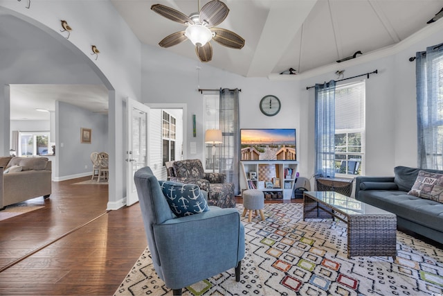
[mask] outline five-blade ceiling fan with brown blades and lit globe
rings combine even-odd
[[[228,16],[229,8],[225,3],[213,0],[200,10],[200,0],[198,0],[198,9],[199,12],[188,16],[161,4],[151,6],[151,10],[159,15],[188,27],[185,31],[163,38],[159,45],[168,48],[189,39],[195,45],[195,52],[201,62],[209,62],[213,58],[213,46],[210,45],[210,40],[231,49],[242,49],[244,39],[241,36],[224,28],[215,28]]]

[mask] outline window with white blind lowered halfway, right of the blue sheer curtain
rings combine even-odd
[[[335,172],[361,175],[365,151],[365,82],[336,87]]]

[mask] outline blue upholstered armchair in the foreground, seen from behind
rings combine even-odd
[[[239,281],[244,227],[237,209],[210,207],[177,218],[149,167],[136,171],[134,181],[154,268],[174,295],[230,268]]]

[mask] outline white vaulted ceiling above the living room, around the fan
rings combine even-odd
[[[241,35],[243,49],[211,42],[211,66],[246,77],[267,77],[289,68],[303,73],[352,56],[392,46],[419,31],[443,7],[442,0],[222,0],[230,9],[217,27]],[[161,3],[190,15],[198,0],[111,0],[144,44],[185,27],[150,8]],[[204,6],[208,0],[201,0]],[[186,40],[164,49],[199,59]],[[359,55],[357,55],[359,56]]]

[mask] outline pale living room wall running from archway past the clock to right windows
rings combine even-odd
[[[204,138],[203,101],[197,89],[238,87],[242,89],[240,127],[296,128],[300,173],[309,177],[313,173],[314,165],[314,92],[307,91],[305,87],[336,78],[334,72],[337,69],[345,69],[345,77],[378,69],[379,74],[372,75],[367,80],[368,162],[365,173],[392,175],[393,166],[417,164],[415,67],[413,63],[408,62],[408,57],[415,55],[417,50],[424,50],[426,46],[441,43],[441,30],[431,35],[421,32],[423,40],[407,42],[405,49],[392,50],[392,53],[381,55],[374,60],[368,60],[372,55],[363,55],[356,59],[359,64],[351,61],[336,64],[334,69],[325,67],[313,78],[308,78],[306,74],[294,80],[273,81],[267,78],[244,78],[222,69],[215,69],[210,64],[202,65],[195,60],[181,58],[156,46],[141,45],[109,1],[47,0],[36,3],[38,5],[33,5],[33,9],[26,9],[18,1],[0,0],[0,10],[44,28],[46,33],[89,65],[110,90],[109,150],[111,155],[114,155],[110,164],[110,208],[118,207],[125,195],[123,100],[127,96],[143,103],[186,103],[188,111],[185,118],[188,122],[185,124],[188,129],[192,129],[192,114],[197,114],[197,137],[193,138],[192,130],[189,130],[184,139],[189,145],[190,141],[202,143]],[[61,17],[67,19],[74,28],[69,40],[60,34]],[[441,28],[441,24],[440,21],[432,26]],[[11,33],[14,34],[14,28],[11,28]],[[96,44],[102,52],[97,61],[91,57],[91,44]],[[29,56],[21,55],[6,60],[29,64],[26,58]],[[3,65],[1,66],[3,71]],[[197,66],[203,67],[199,71],[200,80],[197,80]],[[5,67],[10,67],[10,64],[6,64]],[[13,71],[18,75],[15,83],[23,83],[24,77],[21,75],[28,76],[21,70]],[[54,70],[54,73],[59,72]],[[78,73],[73,72],[66,73],[66,76],[68,75],[79,77]],[[10,83],[8,80],[0,82]],[[278,96],[282,101],[282,111],[277,116],[268,117],[260,113],[258,103],[266,94]],[[0,129],[0,139],[8,134],[6,130],[9,132],[9,121],[5,112],[9,107],[8,95],[3,96],[5,100],[0,100],[0,110],[3,112],[1,117],[4,125]],[[8,149],[6,146],[3,145],[2,148]],[[187,154],[184,157],[203,158],[203,145],[197,145],[195,155]]]

